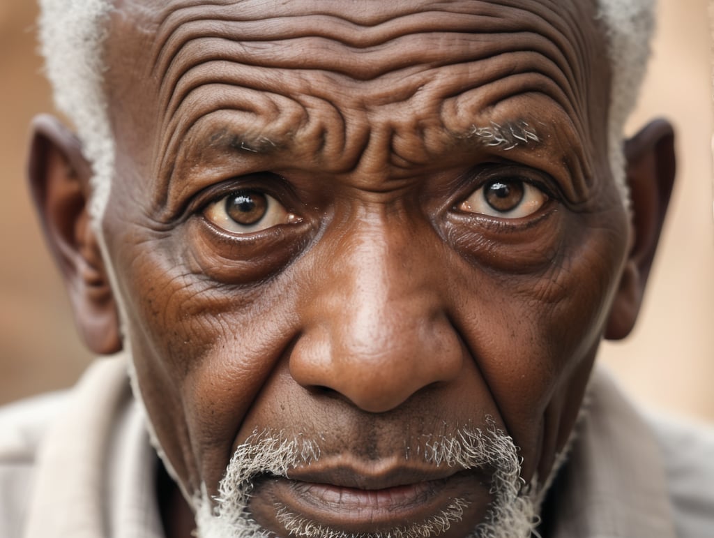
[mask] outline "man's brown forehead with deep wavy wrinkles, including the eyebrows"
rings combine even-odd
[[[594,14],[582,1],[119,3],[119,152],[161,205],[226,174],[300,169],[383,191],[491,159],[543,169],[581,203],[593,156],[606,159]]]

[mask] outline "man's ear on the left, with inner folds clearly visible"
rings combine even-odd
[[[36,117],[28,169],[32,197],[64,277],[79,333],[94,353],[118,352],[116,304],[87,212],[91,166],[79,140],[56,118]]]

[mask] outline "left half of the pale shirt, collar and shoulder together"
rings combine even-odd
[[[0,414],[0,537],[163,537],[158,460],[126,368],[99,359],[69,394]]]

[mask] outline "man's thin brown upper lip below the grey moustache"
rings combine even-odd
[[[463,467],[430,467],[395,462],[313,462],[291,469],[288,479],[354,489],[387,489],[432,482],[463,472]]]

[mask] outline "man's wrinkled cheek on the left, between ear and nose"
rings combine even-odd
[[[243,416],[293,339],[294,286],[288,274],[269,287],[218,284],[186,269],[170,239],[129,239],[118,241],[119,285],[139,387],[161,447],[195,490],[223,473]]]

